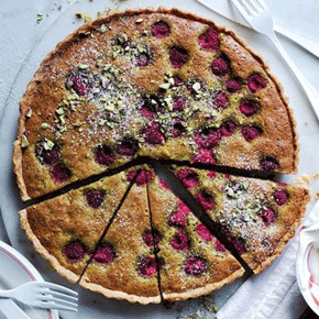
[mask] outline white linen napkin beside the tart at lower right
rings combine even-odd
[[[319,220],[319,200],[304,224]],[[297,319],[307,308],[296,279],[298,235],[272,266],[250,277],[218,311],[218,319]]]

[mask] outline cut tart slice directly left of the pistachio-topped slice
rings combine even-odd
[[[165,300],[209,294],[243,275],[240,263],[157,176],[147,187]]]

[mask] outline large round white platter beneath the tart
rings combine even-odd
[[[121,8],[139,8],[150,6],[148,0],[131,0],[121,4]],[[110,1],[108,1],[108,6]],[[289,70],[278,58],[277,54],[272,50],[268,43],[263,37],[258,37],[254,32],[244,28],[231,23],[230,21],[222,19],[221,16],[209,11],[205,7],[198,4],[194,0],[154,0],[152,6],[164,6],[170,8],[172,6],[180,8],[183,10],[191,11],[199,15],[213,19],[220,25],[227,25],[229,29],[238,31],[249,44],[251,44],[256,52],[263,52],[264,57],[271,65],[271,68],[282,80],[285,92],[289,96],[292,106],[295,110],[296,119],[298,121],[298,131],[300,135],[300,165],[299,170],[308,174],[318,172],[318,148],[319,148],[319,125],[314,117],[311,108],[308,106],[306,97],[300,91],[299,86],[296,84]],[[37,69],[38,64],[45,57],[45,55],[54,48],[57,42],[65,38],[73,30],[80,24],[80,22],[74,22],[74,13],[82,10],[84,12],[102,11],[106,3],[103,1],[82,1],[81,3],[75,3],[66,12],[62,13],[57,21],[48,28],[43,34],[40,42],[36,44],[32,53],[29,55],[24,64],[22,65],[19,75],[14,81],[11,92],[7,100],[3,118],[1,119],[0,136],[0,205],[2,210],[2,217],[8,231],[10,241],[14,248],[23,252],[25,256],[30,258],[34,254],[34,250],[31,243],[25,239],[24,233],[20,230],[19,218],[16,212],[21,209],[21,200],[16,188],[15,176],[12,173],[12,143],[15,140],[18,118],[19,118],[19,100],[23,95],[25,87],[33,76],[33,73]],[[22,28],[22,26],[21,26]],[[305,64],[311,65],[309,57],[306,54],[300,53]],[[308,58],[308,61],[307,61]],[[319,88],[317,86],[317,88]],[[305,125],[305,121],[308,124]],[[286,180],[293,180],[294,177],[285,177]],[[45,279],[68,285],[68,283],[59,277],[55,272],[48,268],[47,263],[38,255],[33,258],[33,264],[44,276]],[[221,290],[212,293],[215,301],[218,307],[221,307],[227,299],[237,290],[244,278],[237,280],[232,285],[223,287]],[[74,286],[72,287],[74,288]],[[102,296],[78,288],[79,293],[79,314],[65,312],[64,318],[101,318],[107,316],[108,318],[132,318],[132,316],[139,316],[139,318],[176,318],[178,315],[176,310],[165,309],[160,305],[140,306],[131,305],[127,301],[119,301],[112,299],[106,299]],[[194,305],[194,309],[199,307],[199,299],[193,301],[182,302],[183,306]],[[135,314],[135,315],[134,315]]]

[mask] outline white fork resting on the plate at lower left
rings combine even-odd
[[[77,311],[77,293],[63,286],[31,282],[14,289],[0,290],[0,298],[11,298],[24,305],[66,311]]]

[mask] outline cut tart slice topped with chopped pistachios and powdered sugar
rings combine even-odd
[[[310,200],[308,189],[283,183],[189,167],[174,172],[255,274],[294,237]]]

